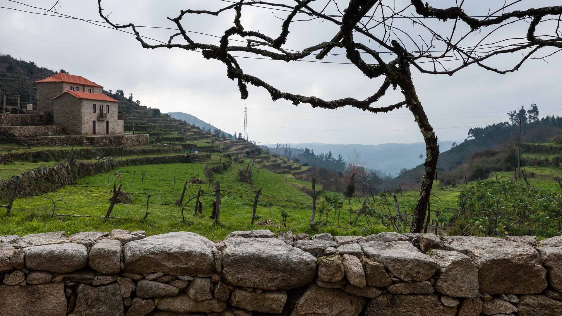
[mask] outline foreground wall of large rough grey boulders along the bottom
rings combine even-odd
[[[0,236],[0,315],[557,316],[562,236]]]

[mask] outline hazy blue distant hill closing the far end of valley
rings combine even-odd
[[[451,148],[453,142],[439,142],[441,151]],[[387,143],[381,145],[362,145],[362,144],[325,144],[325,143],[298,143],[298,144],[279,144],[289,146],[293,154],[301,153],[305,148],[314,150],[316,155],[332,152],[333,156],[342,155],[348,161],[353,155],[353,150],[357,150],[361,155],[359,160],[367,168],[382,171],[388,175],[396,176],[402,168],[414,168],[419,165],[420,154],[425,157],[424,143]],[[268,147],[276,148],[277,144],[269,144]],[[283,155],[284,147],[275,149],[278,154]],[[279,151],[279,152],[278,152]]]

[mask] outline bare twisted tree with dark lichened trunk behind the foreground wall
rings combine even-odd
[[[489,9],[480,6],[481,12],[475,16],[464,12],[464,1],[449,8],[435,8],[422,0],[402,2],[402,7],[397,7],[396,2],[389,0],[324,0],[323,3],[318,3],[321,10],[311,7],[314,0],[232,2],[234,3],[217,11],[180,10],[178,16],[168,18],[178,30],[170,35],[167,42],[158,41],[159,43],[154,44],[152,39],[143,37],[134,24],[115,24],[108,19],[109,15],[102,13],[101,0],[98,0],[98,11],[112,27],[132,29],[135,39],[143,48],[182,48],[201,52],[204,58],[223,62],[228,78],[238,82],[242,99],[248,97],[247,85],[251,84],[266,89],[274,101],[284,99],[294,105],[309,103],[312,107],[324,109],[352,106],[374,114],[406,106],[413,114],[425,141],[424,177],[420,185],[418,204],[414,210],[413,232],[421,232],[423,229],[439,147],[433,127],[416,94],[411,67],[423,74],[453,75],[468,66],[479,66],[498,74],[506,74],[518,70],[524,61],[545,58],[562,50],[559,31],[562,6],[525,7],[526,3],[533,3],[531,1],[512,0]],[[317,2],[320,1],[315,3]],[[274,10],[275,17],[280,12],[286,12],[287,15],[281,18],[279,35],[270,37],[259,31],[245,29],[241,20],[242,9],[248,7],[255,7],[256,10]],[[341,7],[343,10],[340,10]],[[521,9],[507,11],[515,7]],[[223,12],[232,11],[233,26],[225,30],[219,44],[195,42],[182,24],[185,15],[218,16]],[[327,42],[326,39],[320,39],[320,42],[301,51],[283,47],[293,23],[311,21],[321,21],[327,28],[336,25],[339,31]],[[521,24],[523,29],[518,26]],[[537,34],[537,28],[540,29],[540,34]],[[474,34],[479,36],[473,36]],[[235,42],[239,38],[244,45]],[[182,42],[178,42],[178,39]],[[342,49],[344,52],[339,55],[345,54],[347,60],[367,78],[383,78],[377,91],[365,100],[353,97],[324,100],[316,96],[302,96],[280,91],[265,80],[244,72],[238,62],[239,58],[247,57],[290,62],[305,60],[312,55],[321,60],[333,49]],[[536,56],[539,50],[545,51],[544,55]],[[505,70],[498,69],[498,64],[504,65],[512,61],[495,57],[507,54],[515,56],[517,60]],[[391,86],[393,89],[400,89],[404,101],[372,107],[371,105],[379,101]]]

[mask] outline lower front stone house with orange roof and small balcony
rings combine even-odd
[[[123,134],[117,100],[102,93],[68,90],[53,99],[53,120],[75,135]]]

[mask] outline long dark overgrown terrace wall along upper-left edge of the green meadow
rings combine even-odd
[[[100,160],[99,162],[76,162],[69,165],[67,162],[51,167],[35,168],[21,174],[20,182],[17,186],[16,196],[31,196],[38,193],[56,191],[64,186],[69,186],[75,180],[94,175],[106,173],[114,168],[131,165],[151,165],[151,164],[183,164],[189,162],[199,162],[202,158],[209,156],[203,154],[180,154],[171,156],[149,156],[129,158],[123,160]],[[0,195],[8,196],[13,183],[13,178],[0,180]],[[2,315],[2,314],[0,314]]]

